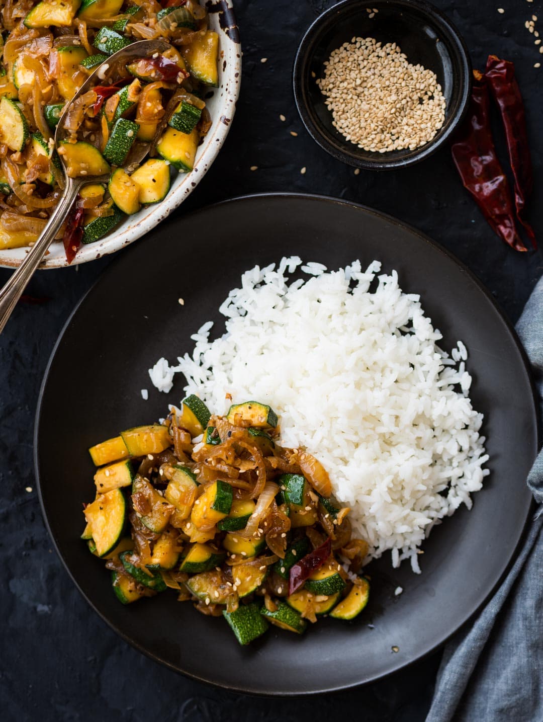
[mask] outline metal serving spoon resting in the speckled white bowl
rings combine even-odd
[[[120,64],[119,61],[128,62],[133,58],[148,57],[152,53],[164,52],[170,47],[171,46],[166,42],[166,40],[138,40],[137,43],[131,43],[131,45],[128,45],[126,48],[123,48],[123,50],[120,50],[118,53],[114,53],[112,56],[107,58],[107,61],[98,66],[97,69],[89,75],[87,80],[79,88],[79,91],[76,92],[76,95],[74,95],[71,99],[70,103],[66,105],[66,108],[58,121],[58,125],[56,126],[56,147],[58,147],[58,143],[66,136],[64,123],[66,121],[66,114],[68,113],[71,104],[74,103],[80,95],[83,95],[88,90],[92,90],[92,88],[96,85],[103,85],[108,77],[108,69],[111,74],[115,66]],[[105,66],[107,66],[107,68],[105,68]],[[134,165],[143,160],[147,155],[147,152],[149,152],[149,145],[149,143],[141,142],[134,144],[128,158],[126,159],[125,165]],[[103,183],[104,181],[108,181],[110,178],[109,173],[106,175],[85,175],[84,177],[70,178],[67,173],[63,157],[61,155],[59,155],[59,157],[61,159],[65,175],[62,196],[53,210],[53,213],[50,215],[48,223],[45,225],[40,238],[38,238],[35,244],[32,245],[32,248],[28,251],[27,256],[22,261],[19,268],[14,271],[12,277],[10,277],[9,281],[0,290],[0,333],[4,330],[4,326],[6,325],[8,318],[12,315],[12,310],[15,308],[22,292],[25,290],[32,274],[37,269],[37,266],[40,265],[43,256],[45,256],[45,252],[49,248],[53,238],[57,235],[58,229],[63,224],[67,214],[69,214],[71,206],[74,204],[81,186],[85,186],[88,183]]]

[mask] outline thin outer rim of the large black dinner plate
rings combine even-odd
[[[318,193],[290,193],[290,192],[275,192],[275,193],[250,193],[244,196],[235,196],[232,199],[226,199],[224,201],[218,201],[217,203],[209,204],[207,206],[203,206],[200,209],[197,209],[195,211],[190,212],[183,218],[186,219],[187,217],[193,217],[197,216],[198,214],[206,214],[209,209],[216,208],[218,206],[223,206],[226,204],[231,203],[241,203],[244,201],[255,201],[259,199],[305,199],[305,200],[312,200],[312,201],[322,201],[325,203],[332,203],[336,205],[342,205],[342,206],[350,206],[353,208],[356,208],[360,210],[361,212],[365,212],[371,215],[374,215],[376,217],[381,217],[383,219],[386,219],[388,222],[394,223],[394,225],[397,225],[399,227],[404,228],[405,230],[408,230],[409,232],[416,235],[420,240],[423,240],[428,245],[433,246],[436,248],[440,253],[443,253],[444,256],[447,256],[451,261],[453,261],[457,266],[459,266],[462,271],[467,274],[469,279],[474,282],[474,284],[477,286],[477,288],[487,297],[487,300],[490,300],[491,305],[493,306],[495,312],[498,314],[498,317],[500,318],[500,321],[504,324],[506,327],[506,330],[510,334],[510,336],[513,338],[514,343],[516,344],[516,348],[519,352],[519,355],[521,357],[521,360],[523,362],[523,370],[524,370],[524,376],[526,378],[526,381],[529,383],[529,388],[531,389],[531,396],[534,401],[534,418],[535,418],[535,446],[539,449],[540,441],[541,441],[541,435],[542,435],[542,428],[541,428],[541,421],[539,419],[539,414],[537,413],[537,409],[539,409],[539,397],[537,395],[536,388],[534,386],[534,381],[532,379],[531,373],[529,373],[529,360],[526,356],[526,351],[524,350],[524,347],[522,346],[520,339],[518,338],[518,335],[516,334],[516,331],[514,329],[513,324],[511,321],[508,320],[508,318],[505,316],[503,311],[500,309],[498,303],[496,303],[493,296],[490,294],[489,291],[485,288],[485,286],[480,282],[480,280],[472,273],[472,271],[469,270],[469,268],[462,263],[462,261],[459,260],[459,258],[456,258],[453,253],[448,251],[446,248],[444,248],[442,245],[437,243],[435,240],[432,240],[429,236],[425,235],[423,232],[420,232],[416,228],[412,227],[411,225],[404,223],[402,221],[399,221],[397,218],[390,216],[389,214],[382,213],[380,211],[375,211],[374,209],[368,208],[367,206],[363,206],[362,204],[353,203],[351,201],[344,201],[343,199],[337,199],[332,196],[324,196],[319,195]],[[177,219],[172,219],[170,222],[176,222]],[[156,229],[155,229],[156,230]],[[145,238],[145,237],[144,237]],[[137,245],[136,245],[137,248]],[[130,251],[128,251],[130,252]],[[495,590],[498,588],[500,583],[502,582],[503,578],[505,578],[508,571],[511,569],[511,566],[513,565],[513,561],[516,557],[516,554],[518,552],[519,547],[521,546],[522,541],[524,541],[524,537],[526,536],[527,527],[529,525],[529,521],[531,520],[531,510],[534,508],[534,502],[532,500],[531,505],[529,506],[528,513],[526,514],[526,519],[524,520],[524,524],[522,526],[521,532],[518,535],[518,539],[516,541],[515,547],[512,549],[511,554],[506,560],[506,563],[503,565],[503,570],[500,573],[500,576],[498,580],[496,580],[495,585],[493,588],[487,593],[484,599],[480,602],[480,604],[477,605],[474,609],[469,610],[467,614],[465,615],[464,619],[462,619],[461,624],[456,627],[456,629],[452,630],[448,635],[446,635],[445,638],[443,638],[440,642],[436,643],[435,645],[431,646],[431,648],[428,648],[427,650],[423,651],[422,653],[418,654],[415,658],[410,659],[410,661],[406,662],[399,662],[397,666],[394,667],[394,669],[391,669],[387,671],[385,674],[376,674],[374,677],[371,677],[371,679],[366,679],[363,682],[354,682],[349,684],[338,684],[333,687],[327,688],[326,690],[317,690],[317,691],[281,691],[278,692],[260,692],[256,690],[247,690],[240,684],[239,686],[232,686],[229,684],[220,684],[217,682],[214,682],[213,679],[208,679],[206,677],[198,676],[197,674],[193,674],[189,669],[181,669],[179,666],[176,666],[175,664],[171,664],[169,661],[159,657],[158,655],[150,652],[144,646],[137,643],[135,640],[133,640],[131,637],[126,635],[122,630],[120,630],[113,622],[108,619],[107,615],[102,613],[100,609],[97,609],[97,606],[94,605],[91,599],[87,596],[87,594],[82,591],[81,587],[77,583],[76,579],[74,578],[74,575],[71,573],[71,569],[66,564],[66,561],[64,560],[63,554],[61,553],[61,550],[58,546],[56,536],[53,534],[53,530],[50,527],[49,519],[48,519],[48,513],[45,509],[45,505],[43,503],[43,496],[42,496],[42,489],[41,489],[41,480],[40,480],[40,469],[38,464],[38,455],[37,455],[37,446],[38,446],[38,436],[39,436],[39,428],[40,428],[40,417],[41,417],[41,408],[42,408],[42,402],[43,402],[43,395],[45,392],[45,386],[47,385],[48,376],[50,367],[53,365],[53,362],[55,360],[56,352],[58,350],[58,347],[60,347],[63,336],[66,333],[66,330],[69,328],[71,321],[73,320],[74,316],[76,316],[76,313],[78,312],[81,305],[87,300],[87,297],[94,292],[94,290],[100,285],[103,279],[105,279],[108,274],[111,274],[115,271],[115,267],[122,262],[122,256],[119,256],[116,258],[110,266],[107,266],[105,271],[102,271],[102,274],[100,274],[100,277],[97,278],[97,280],[92,284],[92,286],[87,290],[87,292],[84,293],[84,295],[81,297],[79,302],[74,307],[74,310],[71,311],[69,318],[67,318],[66,323],[63,324],[63,328],[58,335],[58,339],[55,342],[55,345],[53,347],[53,351],[51,352],[51,355],[48,360],[47,367],[45,368],[45,373],[43,375],[43,380],[40,386],[40,393],[38,395],[37,399],[37,408],[36,408],[36,414],[35,414],[35,424],[34,424],[34,435],[33,435],[33,442],[34,442],[34,448],[33,448],[33,459],[34,459],[34,469],[35,469],[35,478],[37,483],[37,493],[40,500],[40,508],[43,515],[43,520],[45,521],[45,527],[48,531],[48,534],[53,541],[53,546],[55,547],[55,551],[58,554],[58,557],[60,557],[61,562],[63,564],[63,567],[66,569],[66,571],[69,574],[69,577],[71,578],[72,582],[76,586],[76,588],[81,593],[81,596],[84,597],[84,599],[87,601],[89,606],[94,609],[94,612],[96,612],[99,617],[106,622],[108,627],[112,629],[116,634],[120,636],[125,642],[128,642],[133,648],[136,648],[139,652],[143,653],[145,656],[151,658],[152,660],[158,662],[159,664],[162,664],[164,666],[167,666],[169,669],[172,669],[173,671],[177,672],[178,674],[183,674],[185,677],[190,677],[191,679],[195,679],[198,682],[205,682],[206,684],[212,684],[214,687],[220,687],[221,689],[228,690],[229,692],[237,692],[242,693],[246,695],[252,695],[256,697],[307,697],[309,695],[322,695],[327,694],[329,692],[341,692],[343,690],[350,690],[350,689],[356,689],[357,687],[361,687],[364,684],[371,684],[372,682],[376,682],[379,679],[385,679],[389,677],[391,674],[394,674],[395,672],[399,671],[400,669],[406,669],[408,666],[411,666],[412,664],[415,664],[415,662],[421,661],[424,658],[431,655],[433,652],[441,648],[443,644],[445,644],[454,634],[456,631],[459,630],[462,625],[464,625],[468,619],[471,619],[474,614],[477,614],[477,612],[482,609],[482,606],[485,605],[485,603],[490,599],[490,597],[493,595]]]

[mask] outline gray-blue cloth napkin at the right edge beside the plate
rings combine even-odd
[[[516,330],[543,397],[543,278]],[[543,722],[543,451],[521,552],[482,612],[446,645],[426,722]]]

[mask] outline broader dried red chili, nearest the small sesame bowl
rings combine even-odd
[[[466,119],[451,151],[464,188],[472,194],[490,227],[516,251],[526,251],[515,224],[506,175],[496,155],[490,128],[490,95],[486,79],[474,70]]]

